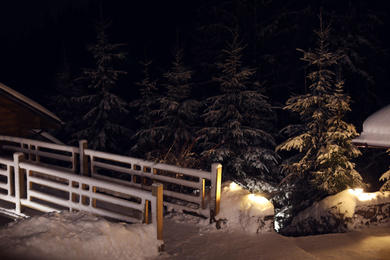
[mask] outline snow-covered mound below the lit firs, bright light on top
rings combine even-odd
[[[389,222],[390,191],[364,193],[347,189],[300,212],[284,232],[289,235],[337,233]]]

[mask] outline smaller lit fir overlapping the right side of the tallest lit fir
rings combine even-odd
[[[365,187],[362,177],[355,170],[352,159],[361,153],[352,145],[352,138],[358,134],[352,124],[343,118],[350,111],[350,97],[343,93],[344,82],[337,82],[334,94],[327,102],[329,118],[324,146],[318,151],[319,170],[314,172],[314,184],[328,194],[335,194],[346,188]]]

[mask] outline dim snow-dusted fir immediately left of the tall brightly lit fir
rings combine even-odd
[[[255,70],[243,67],[244,47],[233,32],[225,60],[218,64],[220,94],[207,99],[201,130],[203,155],[224,166],[224,178],[265,178],[276,164],[274,139],[267,133],[270,105],[253,80]]]

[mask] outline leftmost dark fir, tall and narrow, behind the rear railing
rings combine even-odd
[[[76,136],[88,140],[92,149],[120,152],[123,141],[130,136],[130,130],[122,123],[128,113],[128,104],[114,93],[119,76],[125,74],[125,71],[116,69],[114,65],[125,54],[120,51],[122,44],[109,42],[106,32],[109,26],[109,20],[100,19],[96,25],[96,43],[87,46],[96,61],[96,67],[84,69],[89,92],[77,98],[86,112],[83,127]]]

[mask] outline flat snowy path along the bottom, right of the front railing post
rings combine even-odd
[[[164,219],[165,252],[158,259],[390,259],[390,227],[344,234],[283,237],[215,230]]]

